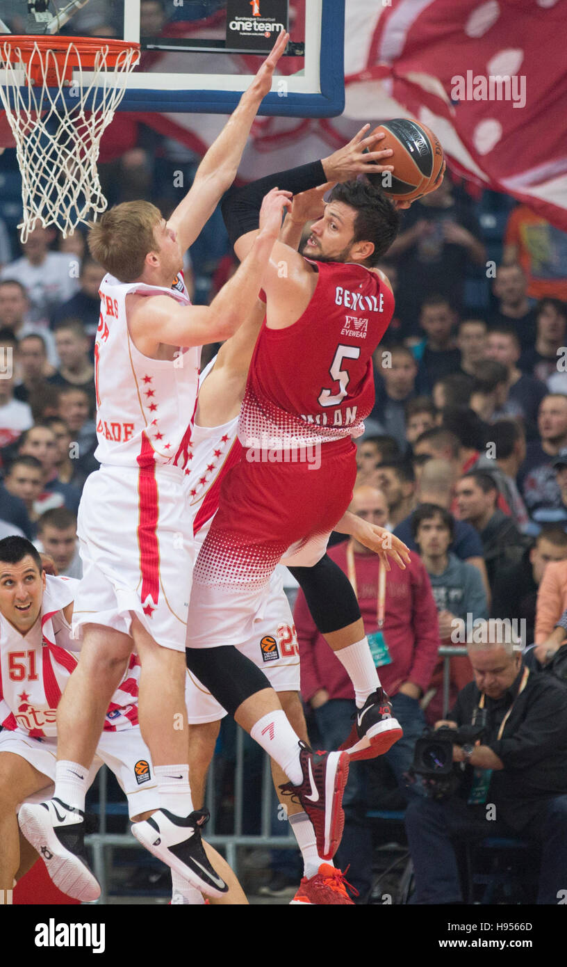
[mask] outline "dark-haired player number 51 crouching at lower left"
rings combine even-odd
[[[25,538],[0,541],[0,894],[12,890],[14,880],[39,855],[56,886],[72,890],[62,879],[61,852],[66,839],[76,836],[76,827],[52,831],[38,853],[18,836],[16,810],[49,794],[55,778],[56,708],[80,650],[71,638],[77,585],[72,578],[46,574],[40,554]],[[139,660],[132,655],[112,696],[86,778],[90,788],[105,763],[127,796],[133,823],[148,818],[159,805],[152,761],[137,724],[138,683]],[[242,902],[232,870],[210,844],[205,846],[230,883],[232,902]],[[176,886],[174,880],[174,897]]]

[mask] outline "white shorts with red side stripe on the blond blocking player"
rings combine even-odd
[[[130,634],[135,614],[159,645],[184,651],[195,556],[187,480],[178,467],[107,464],[87,479],[73,637],[91,623]]]

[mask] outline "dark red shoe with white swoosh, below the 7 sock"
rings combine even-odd
[[[282,792],[297,796],[309,816],[317,837],[317,852],[324,860],[335,855],[343,828],[343,793],[349,777],[349,756],[346,752],[314,752],[299,742],[299,764],[303,781],[296,786],[286,782]]]

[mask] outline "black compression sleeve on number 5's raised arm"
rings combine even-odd
[[[243,188],[231,189],[224,196],[221,205],[230,244],[234,246],[241,235],[258,228],[262,200],[272,188],[298,194],[325,183],[326,174],[322,162],[312,161],[310,164],[301,164],[298,168],[290,168],[289,171],[267,175],[266,178],[260,178]]]

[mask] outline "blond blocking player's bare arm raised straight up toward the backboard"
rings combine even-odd
[[[222,195],[235,180],[252,122],[271,88],[273,71],[289,34],[279,34],[269,56],[241,97],[236,110],[201,161],[190,190],[169,219],[183,251],[193,244],[213,215]]]

